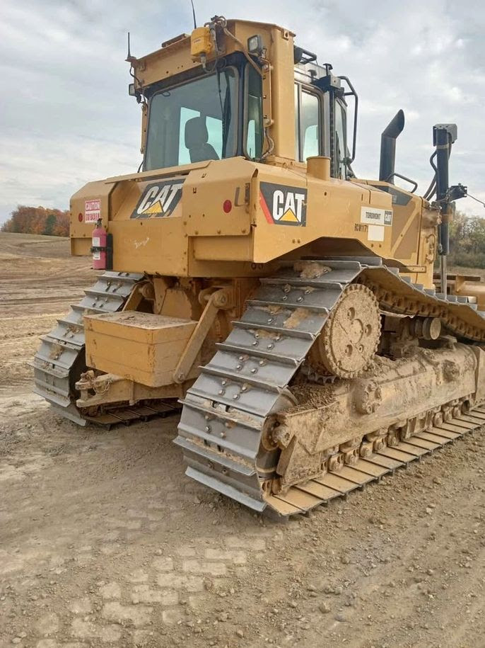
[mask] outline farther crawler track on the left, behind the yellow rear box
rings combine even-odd
[[[83,315],[121,310],[134,285],[142,278],[143,275],[136,273],[103,273],[92,288],[85,290],[81,302],[71,306],[71,312],[58,319],[55,329],[41,338],[39,351],[30,363],[34,369],[34,392],[45,398],[65,419],[80,426],[91,422],[110,428],[178,411],[178,407],[173,405],[154,403],[119,407],[98,416],[84,416],[76,407],[74,385],[85,366]]]

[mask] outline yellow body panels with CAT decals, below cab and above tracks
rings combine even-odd
[[[209,161],[89,183],[71,201],[71,248],[88,254],[98,216],[115,270],[252,276],[276,259],[361,254],[397,260],[431,287],[438,219],[407,196],[393,204],[387,191],[321,180],[302,164]]]

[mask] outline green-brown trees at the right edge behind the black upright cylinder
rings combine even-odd
[[[450,222],[450,264],[485,268],[485,218],[456,212]]]

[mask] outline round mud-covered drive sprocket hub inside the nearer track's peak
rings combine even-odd
[[[340,378],[354,378],[369,365],[379,339],[380,312],[373,292],[361,284],[348,285],[310,349],[310,364]]]

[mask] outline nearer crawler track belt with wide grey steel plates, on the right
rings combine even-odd
[[[175,439],[184,453],[187,476],[255,511],[269,507],[281,516],[307,511],[346,494],[450,440],[433,432],[436,440],[431,439],[432,448],[412,452],[409,445],[418,445],[407,440],[407,450],[397,446],[384,451],[389,456],[360,460],[358,466],[345,470],[347,477],[327,474],[321,484],[307,487],[312,493],[292,487],[290,499],[288,494],[274,496],[262,488],[264,474],[256,462],[264,426],[269,415],[280,409],[288,384],[347,285],[368,286],[388,312],[440,317],[460,337],[485,340],[485,313],[478,312],[476,304],[467,297],[423,289],[402,277],[398,268],[383,266],[380,258],[322,258],[308,263],[321,264],[325,271],[304,275],[288,266],[261,280],[240,321],[233,322],[228,338],[217,345],[214,358],[201,368],[183,399]],[[482,420],[485,416],[479,412],[477,421],[472,422],[478,427]],[[438,443],[439,438],[447,440]],[[348,478],[350,474],[353,479]]]

